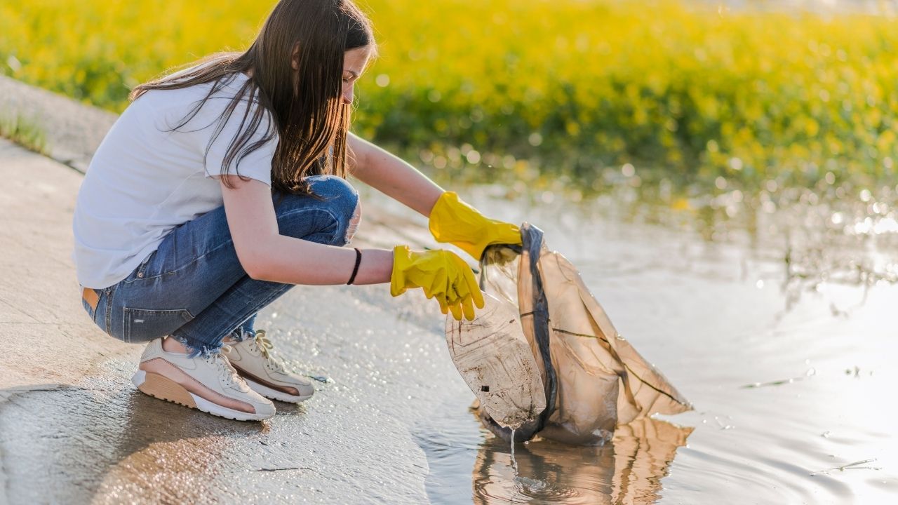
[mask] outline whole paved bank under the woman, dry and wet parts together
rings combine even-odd
[[[2,139],[0,174],[0,503],[427,501],[415,433],[472,397],[436,304],[385,286],[291,289],[257,325],[329,382],[270,421],[214,418],[137,392],[143,346],[84,313],[69,258],[83,175]],[[357,244],[426,243],[419,220],[363,205]]]

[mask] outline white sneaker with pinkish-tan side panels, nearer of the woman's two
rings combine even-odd
[[[131,382],[156,398],[236,421],[275,415],[274,403],[252,391],[221,354],[188,358],[163,350],[163,339],[155,339],[146,346],[138,368]]]

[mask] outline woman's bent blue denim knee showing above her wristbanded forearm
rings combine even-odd
[[[333,175],[316,175],[309,182],[317,198],[285,195],[277,205],[281,234],[321,244],[348,244],[361,218],[358,191]]]

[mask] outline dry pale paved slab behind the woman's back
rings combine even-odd
[[[0,388],[72,382],[109,356],[133,356],[94,331],[77,297],[69,254],[83,175],[6,140],[0,174]]]

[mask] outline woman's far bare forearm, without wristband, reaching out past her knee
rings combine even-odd
[[[415,167],[351,133],[348,146],[349,169],[359,181],[424,216],[430,215],[436,200],[445,192]]]

